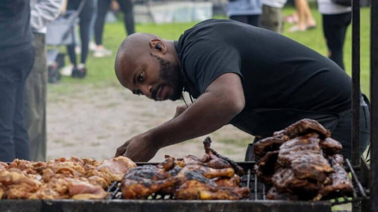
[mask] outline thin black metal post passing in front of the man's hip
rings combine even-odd
[[[360,165],[360,1],[352,0],[352,164]],[[352,204],[361,212],[361,202]]]

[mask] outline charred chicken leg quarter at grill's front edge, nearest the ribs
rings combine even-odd
[[[181,170],[177,175],[181,179],[175,191],[177,199],[230,199],[237,200],[247,197],[248,187],[219,187],[210,179],[204,177],[199,170]]]

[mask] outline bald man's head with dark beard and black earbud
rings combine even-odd
[[[135,33],[118,49],[115,72],[120,83],[134,94],[155,100],[180,98],[183,82],[173,41]]]

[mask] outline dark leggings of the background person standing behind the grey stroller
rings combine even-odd
[[[77,10],[80,4],[80,0],[68,0],[67,1],[67,10]],[[95,5],[93,0],[86,0],[84,7],[79,14],[79,27],[80,27],[80,40],[81,40],[81,58],[80,62],[85,64],[88,57],[88,45],[89,45],[89,31],[91,27],[91,19],[95,10]],[[76,66],[76,54],[75,54],[75,45],[68,45],[67,52],[69,60],[71,63]]]

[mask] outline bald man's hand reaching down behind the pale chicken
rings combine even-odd
[[[125,156],[134,162],[147,162],[158,152],[158,147],[146,133],[136,135],[117,148],[115,157]]]

